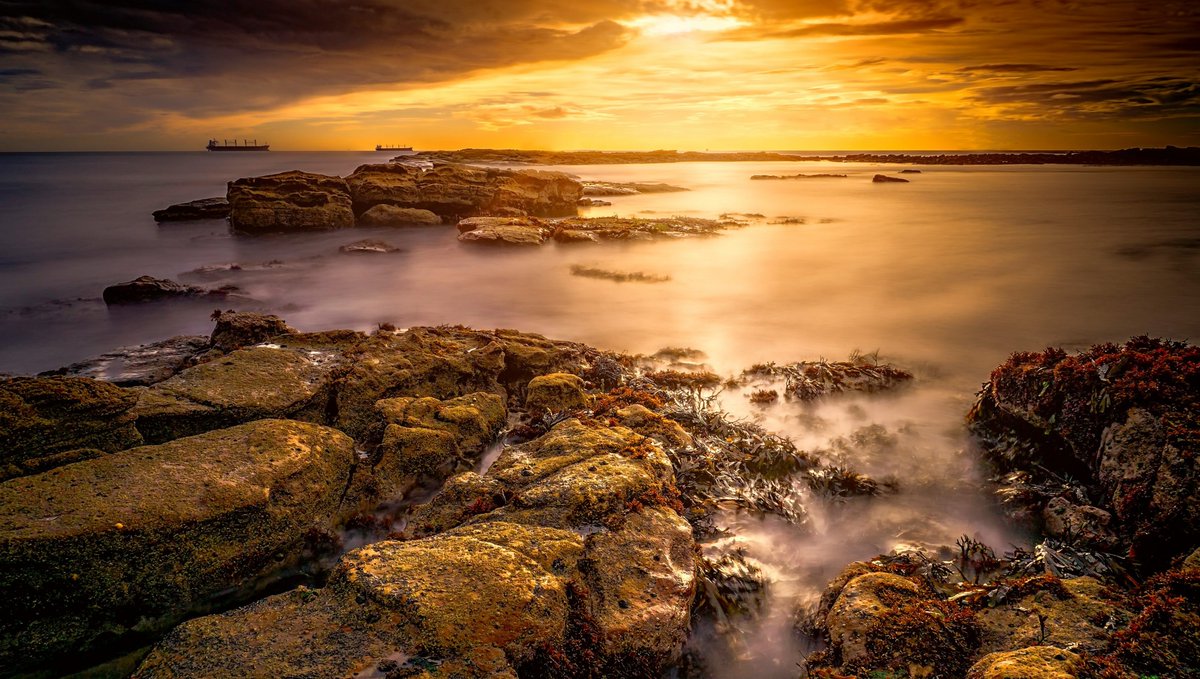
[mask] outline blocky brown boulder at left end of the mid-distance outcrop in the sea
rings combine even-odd
[[[354,226],[346,180],[284,172],[230,181],[229,226],[247,234],[319,232]]]

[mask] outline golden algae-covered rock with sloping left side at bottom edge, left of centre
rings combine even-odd
[[[575,533],[503,522],[377,542],[347,554],[319,593],[180,626],[136,677],[352,677],[416,657],[438,677],[514,672],[562,648],[569,600],[557,573],[582,552]],[[299,633],[256,632],[281,625]]]

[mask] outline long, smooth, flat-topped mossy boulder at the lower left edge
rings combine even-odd
[[[288,567],[354,458],[340,432],[266,420],[0,483],[0,665],[138,645]]]

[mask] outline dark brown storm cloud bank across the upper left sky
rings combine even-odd
[[[565,5],[565,6],[564,6]],[[0,66],[120,90],[124,112],[236,113],[619,47],[641,2],[547,0],[0,1]],[[140,86],[139,86],[140,84]],[[0,79],[0,91],[8,85]],[[0,106],[13,103],[0,98]],[[119,112],[107,112],[120,122]]]

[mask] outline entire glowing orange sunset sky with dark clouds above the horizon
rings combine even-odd
[[[0,0],[0,150],[1200,145],[1196,0]]]

